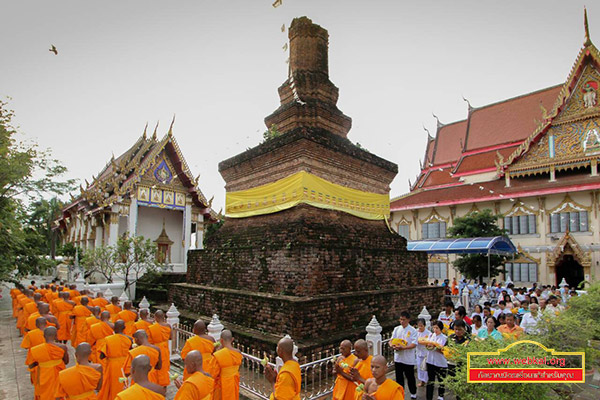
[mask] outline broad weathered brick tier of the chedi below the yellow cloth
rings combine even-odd
[[[228,219],[188,257],[187,282],[295,296],[427,285],[424,253],[384,221],[300,205]]]

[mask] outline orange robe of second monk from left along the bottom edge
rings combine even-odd
[[[66,399],[97,400],[96,388],[102,374],[85,365],[75,365],[60,371],[55,396]]]

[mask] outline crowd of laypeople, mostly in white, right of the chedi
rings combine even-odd
[[[424,319],[417,319],[415,328],[410,325],[408,312],[400,314],[400,325],[392,333],[390,346],[394,349],[396,382],[404,387],[406,381],[411,398],[417,398],[417,386],[426,386],[426,398],[432,400],[437,381],[438,400],[443,400],[445,388],[440,382],[456,370],[449,346],[466,345],[470,340],[502,342],[536,334],[542,317],[556,317],[565,309],[568,299],[578,295],[565,287],[536,284],[517,289],[512,284],[502,287],[494,282],[491,290],[485,284],[478,289],[486,290],[482,295],[490,300],[478,297],[485,301],[475,305],[470,316],[464,306],[455,307],[447,300],[437,320],[431,323],[431,331]],[[496,295],[488,297],[492,291]]]

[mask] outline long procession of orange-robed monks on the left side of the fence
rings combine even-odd
[[[181,351],[181,379],[170,375],[173,331],[161,310],[151,319],[149,310],[135,310],[130,301],[121,308],[117,297],[109,301],[58,280],[39,288],[32,281],[10,295],[35,400],[159,400],[172,381],[175,400],[239,400],[242,353],[229,330],[216,342],[196,321]],[[67,368],[69,344],[76,364]],[[284,338],[277,346],[283,367],[264,367],[272,400],[300,399],[300,366],[292,353],[292,340]]]

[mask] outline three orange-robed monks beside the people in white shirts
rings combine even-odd
[[[340,343],[340,356],[334,360],[337,374],[333,387],[334,400],[403,400],[404,388],[387,378],[387,360],[369,355],[367,342]]]

